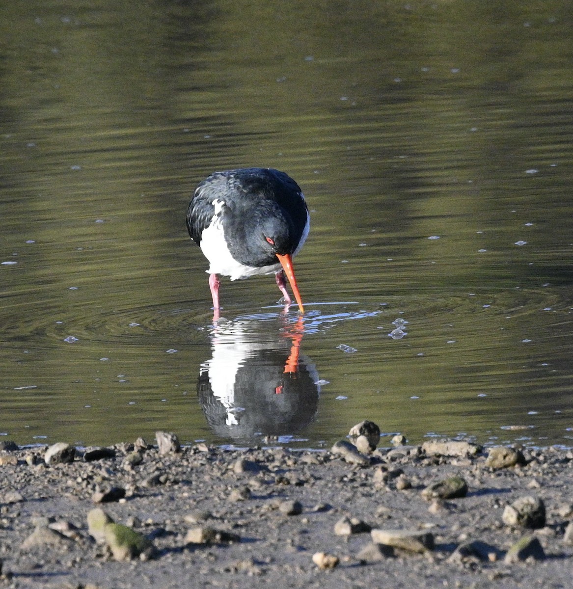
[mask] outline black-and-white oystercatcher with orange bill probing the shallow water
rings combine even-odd
[[[301,313],[301,295],[292,266],[308,236],[310,216],[298,184],[272,168],[215,172],[195,190],[187,210],[187,230],[209,260],[209,287],[219,317],[219,277],[238,280],[276,274],[291,303],[285,273]]]

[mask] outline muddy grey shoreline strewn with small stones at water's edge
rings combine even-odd
[[[3,442],[0,587],[573,587],[573,451],[492,462],[467,442],[341,439],[238,451],[166,435],[62,444],[50,464]],[[121,525],[98,537],[94,509]],[[123,526],[144,544],[117,551]]]

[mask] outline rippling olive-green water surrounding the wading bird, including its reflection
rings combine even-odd
[[[570,2],[4,4],[0,434],[572,445]],[[212,324],[185,210],[243,166],[307,196],[302,319]]]

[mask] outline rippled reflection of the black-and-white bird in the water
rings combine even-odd
[[[202,363],[197,394],[210,428],[233,442],[288,436],[317,412],[318,373],[301,354],[302,317],[251,317],[216,323],[212,358]]]

